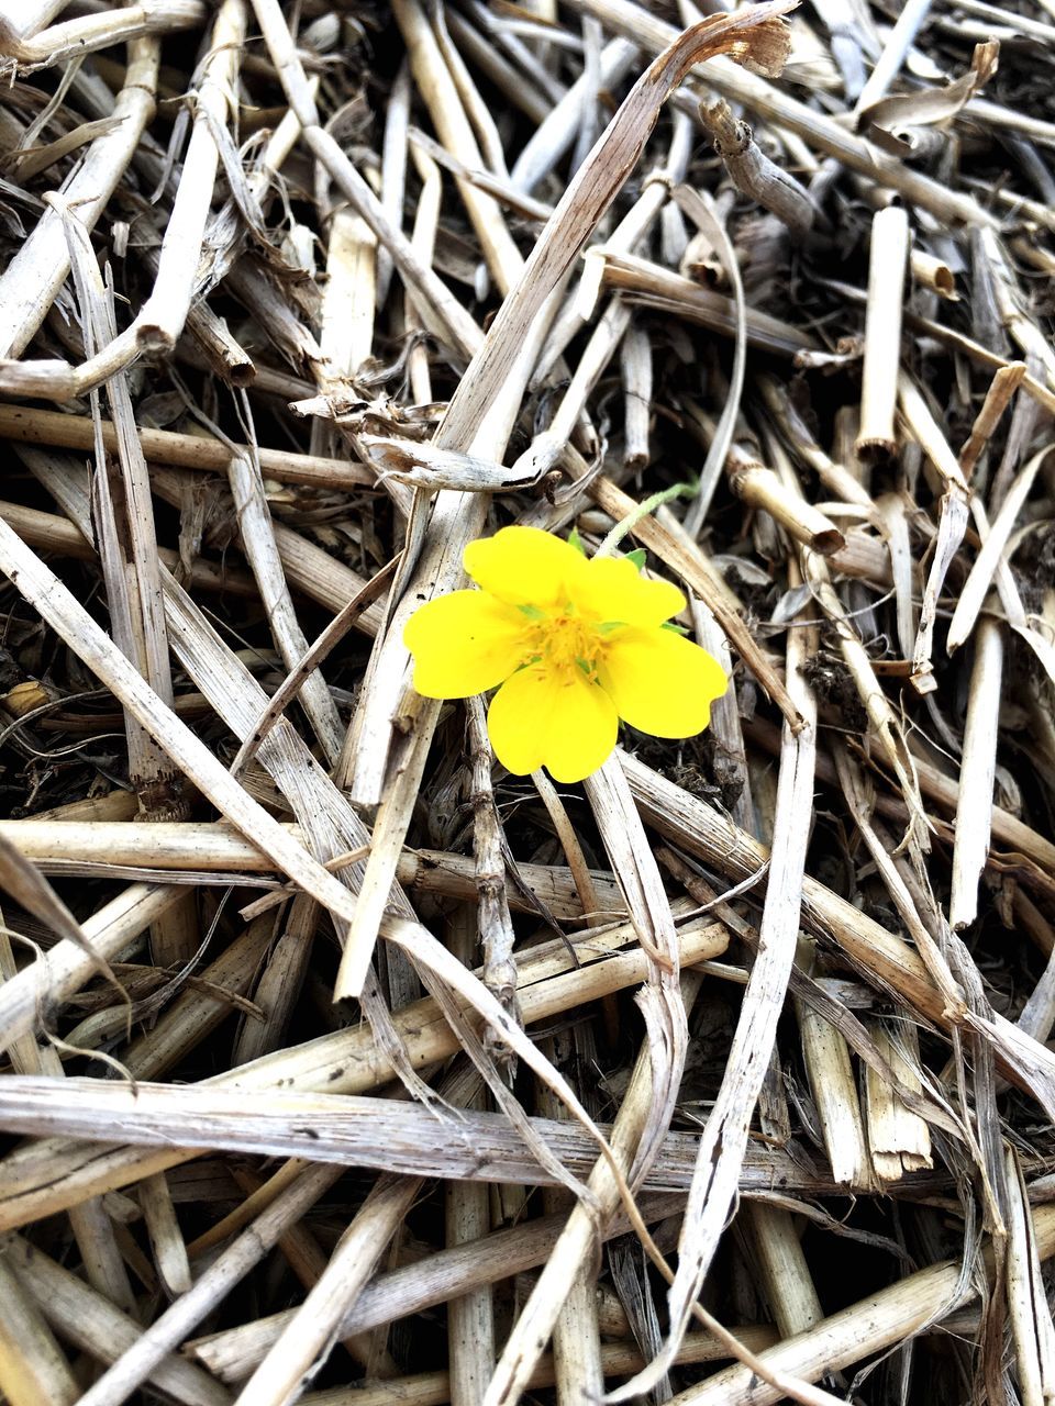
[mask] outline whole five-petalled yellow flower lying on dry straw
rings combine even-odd
[[[501,688],[487,730],[498,761],[558,782],[596,770],[619,718],[654,737],[692,737],[726,692],[724,671],[664,621],[685,606],[627,558],[584,557],[536,527],[471,541],[480,591],[453,591],[407,621],[414,686],[430,699]]]

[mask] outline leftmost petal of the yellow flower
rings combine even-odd
[[[452,591],[414,612],[402,643],[426,699],[467,699],[508,679],[525,655],[525,617],[482,591]]]

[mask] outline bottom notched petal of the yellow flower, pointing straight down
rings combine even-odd
[[[487,714],[502,766],[518,776],[544,766],[556,782],[581,782],[595,772],[618,730],[610,699],[580,669],[520,669],[495,693]]]

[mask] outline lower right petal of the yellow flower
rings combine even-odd
[[[601,686],[632,727],[653,737],[692,737],[729,686],[706,650],[674,630],[625,630],[598,661]]]

